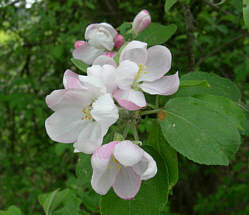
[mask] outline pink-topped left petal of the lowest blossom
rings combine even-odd
[[[108,192],[114,184],[118,173],[118,168],[113,166],[111,160],[112,152],[116,143],[118,143],[118,141],[113,141],[103,145],[94,152],[91,158],[93,168],[91,185],[93,189],[101,195],[105,195]]]

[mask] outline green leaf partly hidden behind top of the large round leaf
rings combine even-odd
[[[181,77],[181,82],[185,80],[206,80],[210,87],[194,86],[180,88],[174,97],[212,94],[225,96],[235,102],[240,100],[240,91],[236,84],[216,74],[210,74],[207,72],[190,72]]]

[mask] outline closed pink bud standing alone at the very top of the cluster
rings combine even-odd
[[[151,17],[147,10],[141,10],[134,18],[132,29],[135,34],[144,31],[150,24]]]

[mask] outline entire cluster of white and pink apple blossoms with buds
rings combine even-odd
[[[132,23],[134,39],[150,22],[149,12],[142,10]],[[125,43],[107,23],[89,25],[85,41],[76,41],[74,48],[73,57],[89,65],[87,74],[66,70],[64,89],[46,97],[54,111],[45,121],[47,134],[56,142],[73,143],[75,152],[92,154],[91,184],[97,193],[104,195],[112,187],[119,197],[134,198],[141,180],[156,175],[156,162],[130,140],[101,145],[119,119],[119,109],[145,108],[144,93],[171,95],[178,90],[178,73],[165,76],[171,68],[171,53],[162,45],[148,48],[137,40]]]

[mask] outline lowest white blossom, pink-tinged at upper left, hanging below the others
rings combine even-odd
[[[122,199],[132,199],[140,189],[141,180],[156,175],[153,158],[129,140],[103,145],[92,155],[93,189],[105,195],[113,187]]]

